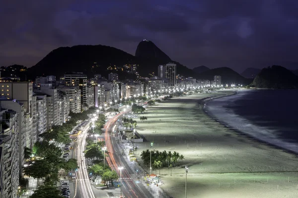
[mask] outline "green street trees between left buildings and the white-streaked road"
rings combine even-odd
[[[43,185],[39,186],[37,190],[30,196],[30,198],[62,198],[61,193],[57,190],[57,182],[60,181],[58,171],[64,169],[66,174],[78,167],[76,159],[69,159],[66,161],[61,158],[62,150],[58,147],[60,143],[71,143],[69,132],[77,125],[79,121],[88,119],[88,114],[94,113],[95,108],[89,108],[81,113],[70,113],[71,117],[66,123],[60,126],[53,126],[51,130],[40,134],[42,141],[36,142],[30,150],[25,148],[25,158],[31,156],[33,160],[31,163],[23,168],[24,174],[29,177],[39,180],[44,179]],[[49,142],[53,141],[52,144]]]

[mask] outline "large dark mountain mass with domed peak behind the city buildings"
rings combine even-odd
[[[146,44],[144,44],[146,43]],[[145,47],[144,47],[145,46]],[[154,49],[154,57],[152,53],[149,55],[144,51]],[[138,51],[138,52],[137,52]],[[61,47],[54,49],[36,65],[27,69],[27,79],[35,79],[37,76],[55,75],[57,78],[63,76],[64,73],[74,71],[83,72],[88,77],[94,74],[101,74],[108,77],[108,73],[117,73],[120,80],[136,79],[137,75],[131,72],[130,67],[124,65],[137,65],[136,71],[144,77],[154,72],[157,74],[157,66],[168,62],[175,62],[158,49],[150,41],[142,41],[137,48],[134,56],[120,49],[102,45],[80,45],[73,47]],[[156,56],[156,57],[155,57]],[[193,71],[186,66],[177,64],[177,73],[183,76],[193,77]]]

